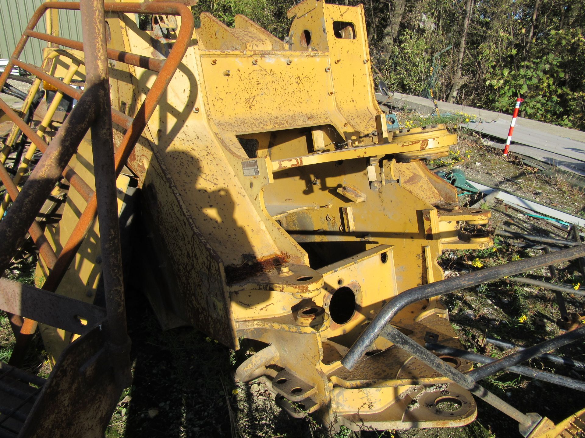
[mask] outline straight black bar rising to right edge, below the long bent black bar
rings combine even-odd
[[[550,350],[556,350],[563,345],[567,345],[570,342],[574,342],[577,339],[581,339],[585,336],[585,326],[581,326],[569,332],[563,333],[563,335],[557,336],[556,338],[545,340],[544,342],[538,343],[531,347],[526,347],[515,353],[509,354],[502,359],[498,359],[490,364],[484,365],[483,367],[472,370],[467,375],[473,380],[478,381],[487,376],[497,373],[505,368],[509,368],[512,365],[519,364],[525,360],[532,359],[532,357],[539,356],[542,353],[546,353]]]

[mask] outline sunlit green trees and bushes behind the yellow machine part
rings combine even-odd
[[[573,0],[328,0],[362,3],[371,59],[390,91],[585,128],[585,8]],[[296,0],[201,0],[226,25],[238,13],[281,39]]]

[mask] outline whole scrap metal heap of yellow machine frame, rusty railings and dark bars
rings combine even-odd
[[[0,77],[17,66],[37,78],[21,113],[41,82],[58,91],[35,128],[0,100],[15,123],[2,163],[21,134],[30,142],[19,157],[43,152],[20,192],[0,166],[13,201],[0,221],[0,274],[27,231],[39,251],[38,288],[0,279],[0,308],[16,333],[12,364],[35,321],[56,363],[46,383],[1,365],[0,378],[14,380],[0,386],[2,436],[103,436],[130,379],[119,217],[136,192],[148,235],[136,245],[151,248],[153,264],[144,291],[161,325],[254,345],[238,378],[259,378],[290,415],[334,429],[461,426],[476,418],[475,395],[524,436],[572,427],[476,382],[582,338],[583,326],[473,369],[480,360],[457,355],[440,296],[585,246],[443,280],[444,249],[493,245],[490,211],[460,207],[456,188],[421,161],[448,154],[456,135],[388,131],[362,6],[305,0],[288,12],[284,43],[243,16],[232,29],[203,13],[194,29],[181,4],[85,0],[85,45],[35,30],[57,9],[80,5],[40,6]],[[42,67],[18,60],[29,39],[49,43]],[[56,126],[63,95],[78,102]],[[47,211],[59,221],[39,223]],[[20,376],[41,389],[22,388]]]

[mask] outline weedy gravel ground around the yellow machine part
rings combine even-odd
[[[402,114],[402,121],[424,124],[415,114]],[[430,167],[461,168],[470,178],[500,185],[544,204],[573,214],[585,211],[585,194],[573,186],[572,176],[552,176],[536,172],[518,161],[506,160],[501,152],[490,150],[479,137],[459,131],[460,141],[448,158],[429,163]],[[0,190],[2,187],[0,187]],[[476,202],[474,196],[461,196],[462,205]],[[496,203],[490,208],[493,220],[518,231],[565,239],[566,231],[541,219],[527,217]],[[496,238],[495,248],[484,251],[447,251],[440,259],[447,276],[459,275],[500,265],[511,260],[539,255],[541,250],[516,246],[520,241]],[[29,260],[14,267],[12,276],[23,279],[34,266]],[[547,269],[535,272],[549,277]],[[585,279],[576,263],[558,269],[559,281],[579,288]],[[584,297],[565,296],[569,314],[583,315]],[[295,420],[281,411],[260,383],[235,383],[233,373],[242,361],[242,352],[233,352],[214,339],[190,328],[161,332],[147,300],[139,290],[127,292],[128,326],[132,338],[133,384],[121,401],[106,431],[108,438],[126,437],[420,437],[463,438],[519,436],[517,423],[478,401],[477,420],[452,429],[412,429],[406,431],[330,433],[311,418]],[[517,344],[532,345],[558,335],[560,313],[555,294],[542,288],[524,286],[501,279],[476,288],[450,294],[444,300],[450,319],[464,347],[470,351],[501,357],[506,350],[484,344],[488,335]],[[562,325],[562,324],[561,324]],[[0,317],[0,360],[11,350],[8,321]],[[34,373],[49,371],[42,343],[36,340],[27,368]],[[585,361],[583,343],[563,347],[558,354]],[[585,370],[533,360],[532,366],[583,380]],[[522,412],[539,412],[555,422],[585,407],[583,393],[541,381],[500,373],[481,381],[488,390],[510,402]]]

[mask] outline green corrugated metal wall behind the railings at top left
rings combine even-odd
[[[43,0],[0,0],[0,58],[11,57],[30,17],[42,3]],[[79,11],[59,11],[59,35],[81,41],[79,17]],[[44,16],[39,20],[36,30],[46,32]],[[30,39],[19,59],[40,65],[44,47],[47,47],[44,41]]]

